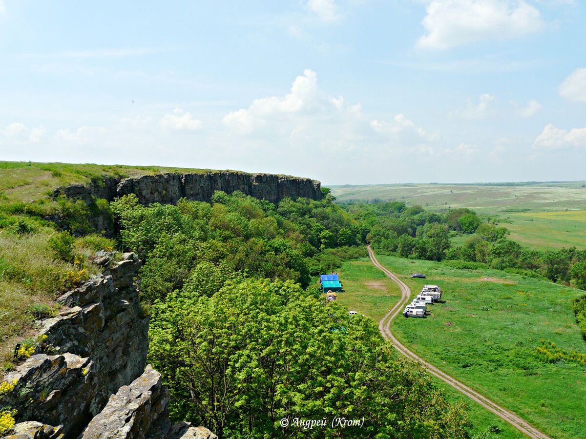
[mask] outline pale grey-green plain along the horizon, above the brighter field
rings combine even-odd
[[[347,201],[404,201],[433,211],[468,207],[481,214],[514,211],[586,209],[586,183],[503,184],[379,184],[331,186],[340,203]]]

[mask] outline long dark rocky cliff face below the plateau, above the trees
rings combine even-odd
[[[246,195],[278,203],[285,197],[321,200],[321,183],[298,177],[272,174],[246,174],[224,171],[203,174],[156,174],[128,179],[94,180],[88,186],[76,184],[60,188],[55,195],[89,199],[104,198],[112,201],[127,194],[136,194],[141,204],[175,204],[180,198],[210,201],[215,191]]]

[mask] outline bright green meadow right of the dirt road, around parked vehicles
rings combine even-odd
[[[551,437],[583,437],[586,370],[573,363],[539,362],[534,355],[541,338],[586,352],[571,310],[583,291],[497,270],[378,259],[414,292],[426,282],[445,291],[446,303],[432,306],[430,317],[394,322],[393,331],[404,344]],[[411,279],[406,273],[414,270],[428,279]]]

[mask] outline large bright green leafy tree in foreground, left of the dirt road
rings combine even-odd
[[[464,407],[397,361],[374,321],[324,306],[290,281],[229,282],[212,297],[175,291],[151,315],[148,361],[171,390],[174,420],[207,420],[219,437],[260,439],[285,437],[275,419],[335,413],[364,417],[345,437],[468,438]],[[330,439],[339,431],[286,436]]]

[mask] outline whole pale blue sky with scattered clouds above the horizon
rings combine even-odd
[[[583,180],[584,8],[0,0],[0,160]]]

